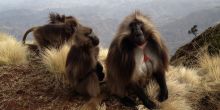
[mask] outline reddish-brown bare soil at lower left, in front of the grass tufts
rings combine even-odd
[[[53,74],[46,71],[39,58],[30,58],[26,65],[0,66],[0,109],[32,110],[79,109],[85,97],[57,87]],[[133,110],[122,106],[116,99],[105,99],[107,110]]]

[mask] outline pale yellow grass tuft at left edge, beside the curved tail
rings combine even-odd
[[[27,63],[27,47],[16,41],[15,37],[0,33],[0,65]]]

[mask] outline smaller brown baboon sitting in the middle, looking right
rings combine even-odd
[[[75,43],[67,56],[66,74],[76,92],[94,99],[100,95],[99,80],[104,78],[103,68],[97,61],[99,39],[93,34],[92,29],[80,29],[83,30],[76,31]],[[93,100],[92,103],[97,101]],[[90,105],[89,108],[93,107]]]

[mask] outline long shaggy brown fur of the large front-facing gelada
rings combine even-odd
[[[143,31],[147,39],[144,52],[151,59],[146,63],[145,77],[139,76],[135,71],[136,66],[139,66],[135,62],[135,49],[137,47],[132,44],[133,41],[125,42],[125,39],[132,37],[129,24],[134,20],[141,21],[144,24]],[[158,79],[165,76],[165,71],[168,69],[167,49],[159,32],[148,17],[137,11],[125,18],[109,48],[106,67],[109,89],[112,94],[120,97],[126,96],[127,88],[133,89],[133,85],[145,87],[148,79],[153,77]]]

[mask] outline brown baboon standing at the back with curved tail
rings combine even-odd
[[[25,44],[28,33],[33,31],[34,38],[40,47],[59,48],[62,44],[74,37],[78,22],[75,19],[65,20],[65,23],[47,24],[43,26],[33,27],[24,34],[23,44]]]

